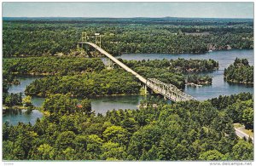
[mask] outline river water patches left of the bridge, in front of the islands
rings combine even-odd
[[[20,84],[12,85],[9,87],[9,93],[23,93],[26,86],[32,83],[35,79],[40,77],[19,77]],[[25,94],[24,94],[25,95]],[[91,99],[92,110],[96,113],[105,114],[108,110],[118,109],[137,109],[140,100],[143,99],[142,95],[121,95],[121,96],[108,96],[108,97],[96,97]],[[42,106],[44,98],[32,97],[33,106]],[[8,121],[9,123],[16,125],[19,122],[34,124],[37,118],[43,117],[43,113],[38,110],[33,110],[30,114],[26,113],[26,110],[9,109],[3,113],[3,123]]]

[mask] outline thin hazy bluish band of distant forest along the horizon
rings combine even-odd
[[[163,18],[84,18],[84,17],[3,17],[4,21],[29,23],[89,23],[89,24],[150,24],[150,25],[173,25],[173,26],[232,26],[232,25],[249,25],[253,26],[253,19],[214,19],[214,18],[178,18],[178,17],[163,17]]]

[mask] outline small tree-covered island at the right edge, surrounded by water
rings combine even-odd
[[[235,62],[224,69],[224,79],[230,83],[253,83],[253,66],[247,59],[236,58]]]

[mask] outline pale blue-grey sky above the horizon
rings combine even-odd
[[[3,3],[3,17],[253,18],[253,3]]]

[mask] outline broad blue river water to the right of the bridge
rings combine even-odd
[[[240,92],[253,93],[252,85],[230,84],[224,82],[224,68],[227,68],[238,58],[246,58],[249,64],[254,66],[253,63],[253,50],[252,49],[236,49],[213,51],[207,54],[122,54],[118,58],[124,60],[177,60],[178,58],[184,59],[212,59],[218,61],[218,71],[207,73],[212,76],[212,85],[203,86],[200,88],[186,87],[185,92],[194,96],[198,100],[207,100],[219,95],[238,94]]]

